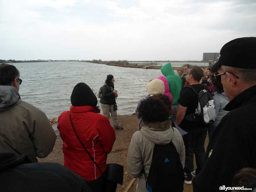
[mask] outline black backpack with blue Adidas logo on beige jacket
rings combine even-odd
[[[183,191],[184,170],[172,141],[167,145],[155,144],[152,163],[145,180],[149,192]]]

